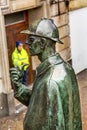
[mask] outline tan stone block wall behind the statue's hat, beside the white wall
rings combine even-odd
[[[59,8],[58,8],[59,7]],[[50,7],[51,18],[54,20],[59,30],[59,38],[64,44],[56,44],[56,50],[60,53],[64,60],[68,61],[71,58],[70,37],[69,37],[69,15],[68,8],[64,1],[54,3]]]

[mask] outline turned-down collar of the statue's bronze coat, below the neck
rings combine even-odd
[[[37,76],[40,76],[42,73],[46,72],[48,68],[54,66],[56,64],[60,64],[63,62],[63,59],[60,57],[58,53],[48,57],[44,62],[42,62],[36,69]]]

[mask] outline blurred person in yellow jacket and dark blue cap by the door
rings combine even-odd
[[[16,41],[16,47],[12,53],[12,63],[14,67],[18,67],[20,70],[23,69],[22,84],[26,85],[30,62],[28,53],[23,48],[21,41]]]

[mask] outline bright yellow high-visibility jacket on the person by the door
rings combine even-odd
[[[22,50],[19,52],[18,49],[15,48],[15,50],[12,53],[12,62],[14,67],[19,67],[19,69],[22,69],[23,63],[27,64],[24,67],[24,70],[26,70],[30,65],[27,51],[22,48]]]

